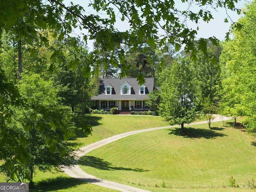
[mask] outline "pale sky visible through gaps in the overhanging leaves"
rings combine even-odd
[[[83,6],[84,9],[86,10],[86,14],[95,14],[96,12],[92,10],[92,8],[88,7],[88,3],[90,2],[89,0],[71,0],[74,4],[79,4],[80,6]],[[181,0],[175,0],[175,5],[177,8],[180,10],[186,9],[186,4],[182,4]],[[64,3],[66,5],[70,5],[70,0],[64,0]],[[241,0],[238,3],[235,4],[236,8],[244,8],[244,4],[248,3],[246,0]],[[198,8],[196,6],[192,7],[192,10],[197,10]],[[231,10],[226,10],[224,8],[218,10],[213,10],[209,9],[212,12],[213,18],[210,22],[206,23],[202,20],[199,21],[198,27],[198,38],[209,38],[212,36],[215,36],[219,40],[224,40],[226,36],[226,32],[228,32],[230,25],[232,22],[237,22],[238,18],[242,17],[242,14],[238,15],[236,12],[232,12]],[[105,16],[104,13],[98,13],[101,14],[102,16]],[[227,15],[228,14],[228,15]],[[228,23],[224,22],[224,19],[228,18]],[[196,29],[197,25],[192,23],[192,22],[187,22],[187,25],[189,28]],[[116,22],[116,28],[120,31],[125,31],[129,29],[129,24],[128,22],[124,23],[120,19]],[[87,33],[85,30],[82,31],[83,33]],[[74,30],[75,34],[81,34],[81,31],[78,29]],[[161,33],[161,31],[160,31]],[[232,38],[232,37],[231,37]],[[89,51],[92,51],[93,49],[93,40],[88,40],[87,47]]]

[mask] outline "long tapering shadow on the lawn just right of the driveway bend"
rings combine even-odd
[[[100,170],[125,170],[125,171],[135,171],[135,172],[145,172],[149,170],[143,170],[140,168],[124,168],[124,167],[114,167],[110,162],[104,161],[101,158],[94,156],[83,156],[78,160],[78,164],[84,166],[90,166]]]

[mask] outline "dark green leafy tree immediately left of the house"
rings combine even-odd
[[[74,39],[68,38],[66,41]],[[55,39],[56,40],[56,39]],[[48,74],[53,80],[54,85],[60,88],[59,96],[62,102],[70,106],[74,112],[84,112],[89,108],[88,84],[89,78],[84,76],[83,70],[88,61],[88,50],[80,42],[78,49],[74,49],[65,42],[55,41],[55,48],[64,52],[64,55],[57,56],[61,63],[56,62],[54,65],[54,73]],[[79,40],[78,40],[79,41]],[[76,60],[76,66],[69,68],[70,60]],[[88,110],[87,110],[88,111]]]

